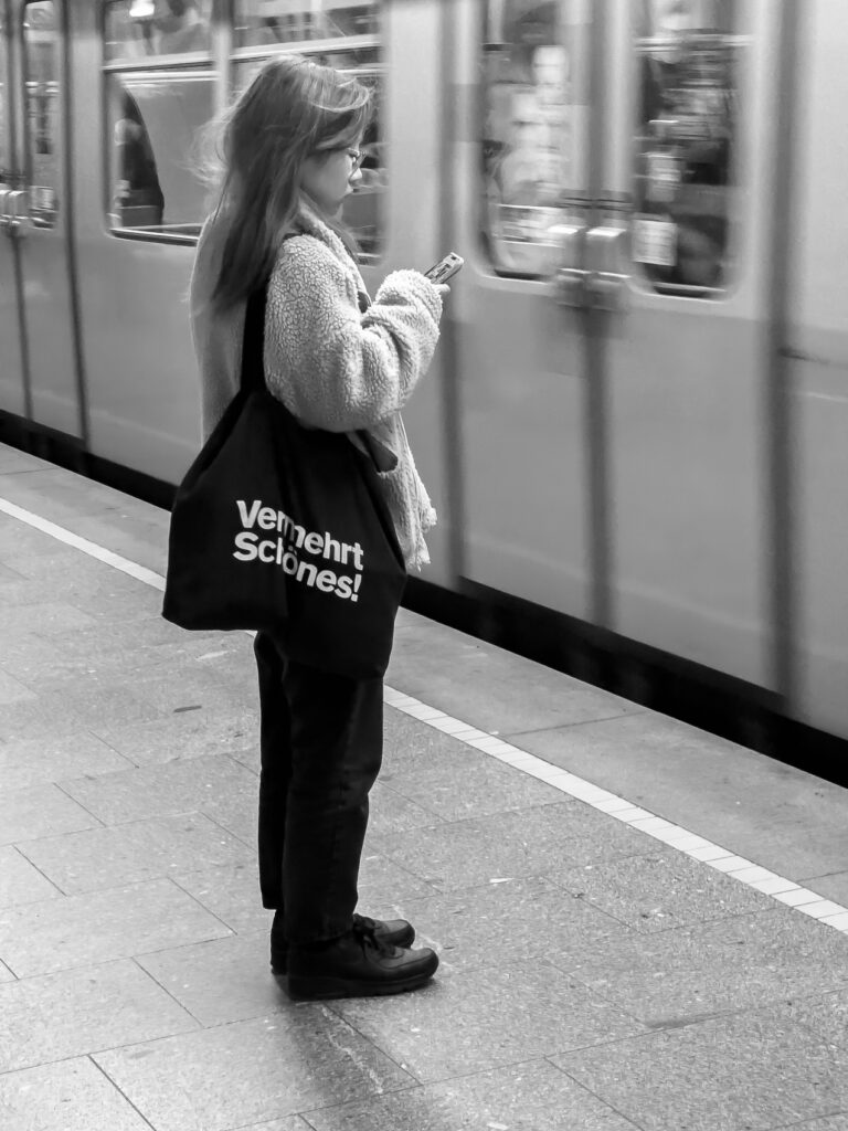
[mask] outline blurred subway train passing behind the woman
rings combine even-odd
[[[0,23],[0,439],[168,498],[198,138],[265,59],[314,57],[374,92],[369,286],[465,259],[405,411],[440,515],[413,606],[796,762],[848,749],[845,0]]]

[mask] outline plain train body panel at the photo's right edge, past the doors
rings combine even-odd
[[[848,11],[802,24],[789,339],[797,460],[798,714],[848,735]]]

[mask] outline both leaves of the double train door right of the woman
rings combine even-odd
[[[760,684],[775,8],[479,0],[459,49],[461,572]]]

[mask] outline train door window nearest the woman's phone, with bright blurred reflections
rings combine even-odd
[[[547,232],[586,192],[586,20],[581,0],[484,5],[482,226],[499,274],[550,274]]]

